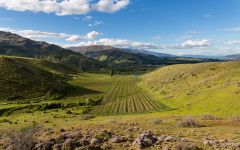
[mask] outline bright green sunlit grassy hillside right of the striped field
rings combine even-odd
[[[240,62],[173,65],[142,77],[143,85],[180,114],[240,114]]]

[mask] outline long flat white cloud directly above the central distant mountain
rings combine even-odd
[[[99,39],[97,41],[86,41],[80,42],[75,45],[64,45],[64,47],[79,47],[79,46],[90,46],[90,45],[106,45],[106,46],[115,46],[121,48],[143,48],[143,49],[162,49],[160,45],[147,42],[136,42],[125,39]]]

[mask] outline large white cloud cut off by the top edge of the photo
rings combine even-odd
[[[91,11],[113,13],[129,5],[130,0],[0,0],[0,7],[14,11],[55,13],[58,16],[87,14]]]

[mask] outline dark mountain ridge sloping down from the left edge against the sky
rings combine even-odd
[[[0,55],[40,58],[64,63],[78,70],[103,67],[100,62],[77,52],[46,42],[33,41],[16,34],[0,31]]]

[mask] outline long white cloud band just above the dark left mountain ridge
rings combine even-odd
[[[76,35],[67,33],[54,33],[54,32],[43,32],[37,30],[21,30],[0,27],[0,31],[12,32],[30,39],[42,39],[42,38],[53,38],[53,39],[64,39],[69,42],[76,42],[79,40],[91,40],[100,35],[97,31],[91,31],[86,35]]]

